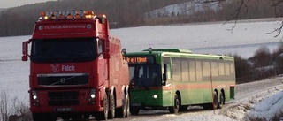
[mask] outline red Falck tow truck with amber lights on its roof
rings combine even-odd
[[[40,15],[22,49],[22,61],[30,58],[34,121],[128,117],[128,65],[106,16],[83,10]]]

